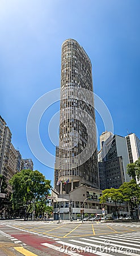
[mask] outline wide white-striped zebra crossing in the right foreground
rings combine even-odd
[[[83,255],[83,253],[101,256],[140,255],[140,232],[80,237],[78,239],[68,238],[66,241],[56,242],[61,245],[60,251],[63,253],[75,250],[75,253],[79,253],[79,255]]]

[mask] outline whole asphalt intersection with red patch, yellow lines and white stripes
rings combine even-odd
[[[138,256],[140,222],[0,220],[1,256]]]

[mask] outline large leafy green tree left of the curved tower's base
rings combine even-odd
[[[44,212],[47,203],[47,195],[49,195],[50,180],[46,180],[45,176],[39,171],[22,170],[15,174],[9,181],[12,185],[12,207],[14,210],[24,210],[25,219],[32,212],[33,202],[35,203],[35,212],[37,214]],[[39,205],[37,209],[37,205]]]

